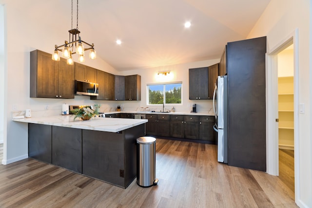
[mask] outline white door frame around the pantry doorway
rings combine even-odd
[[[293,102],[294,102],[294,189],[295,202],[300,196],[299,169],[299,44],[298,28],[267,52],[267,173],[278,175],[278,73],[277,54],[293,44]]]

